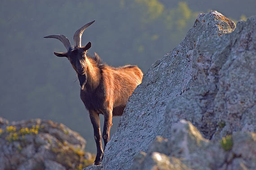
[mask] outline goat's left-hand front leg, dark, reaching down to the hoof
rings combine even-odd
[[[99,165],[101,164],[102,157],[103,157],[100,117],[99,117],[99,113],[96,113],[94,111],[89,111],[89,113],[90,113],[91,122],[93,124],[94,139],[97,146],[97,155],[96,155],[94,164]]]

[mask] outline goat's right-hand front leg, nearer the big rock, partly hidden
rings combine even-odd
[[[104,126],[103,126],[103,140],[104,140],[104,151],[106,148],[106,144],[109,141],[109,132],[110,127],[112,126],[112,109],[106,109],[104,112]]]

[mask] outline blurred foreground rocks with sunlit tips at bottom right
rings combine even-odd
[[[230,149],[211,142],[188,121],[174,123],[169,139],[156,137],[147,153],[138,154],[131,170],[256,169],[256,133],[234,132]],[[227,139],[228,140],[228,139]]]

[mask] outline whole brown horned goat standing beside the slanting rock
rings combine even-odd
[[[57,57],[67,57],[77,73],[81,86],[80,97],[89,111],[97,145],[97,156],[94,164],[99,165],[103,158],[99,114],[104,115],[102,136],[105,150],[109,141],[112,116],[123,114],[129,96],[141,83],[143,73],[135,65],[114,68],[103,64],[97,53],[95,53],[95,57],[87,56],[91,42],[82,47],[81,37],[84,30],[93,22],[89,22],[75,32],[75,45],[72,47],[69,39],[64,35],[49,35],[44,38],[58,39],[67,49],[67,52],[54,52],[54,54]]]

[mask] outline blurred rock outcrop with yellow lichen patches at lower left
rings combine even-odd
[[[0,170],[82,169],[95,156],[86,141],[62,123],[31,119],[9,123],[0,118]]]

